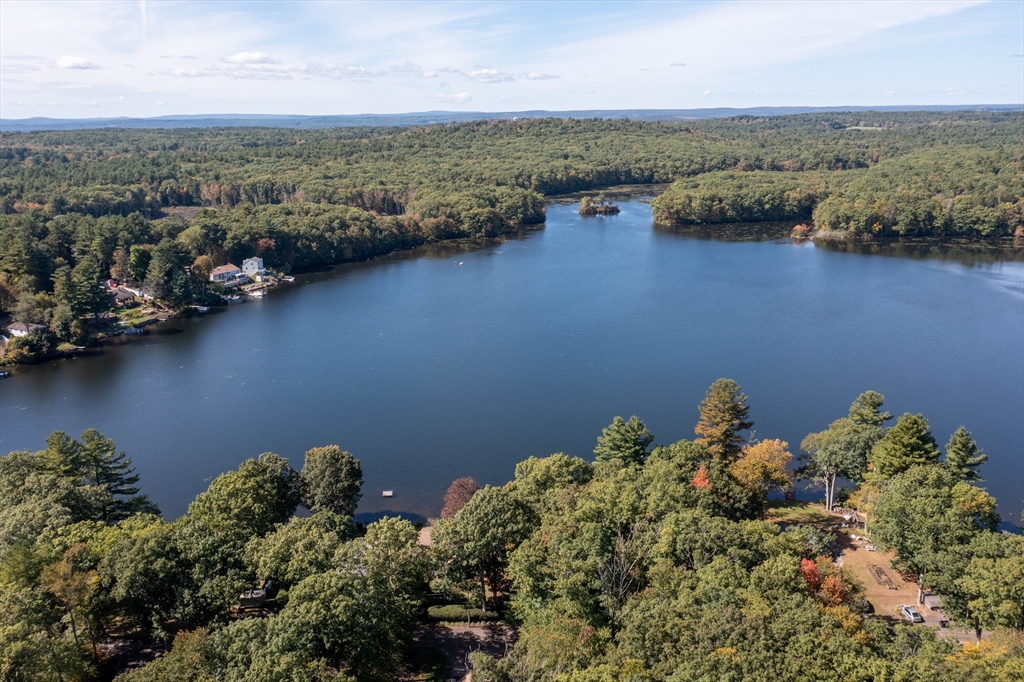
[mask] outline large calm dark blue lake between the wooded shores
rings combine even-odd
[[[924,413],[940,444],[967,426],[990,456],[984,485],[1020,522],[1019,256],[717,241],[621,206],[582,218],[554,204],[519,240],[341,266],[19,370],[0,382],[0,451],[97,428],[175,517],[246,458],[300,468],[338,443],[362,463],[361,513],[429,516],[454,478],[592,458],[615,415],[639,415],[655,442],[692,438],[708,386],[731,377],[757,437],[795,454],[867,389]]]

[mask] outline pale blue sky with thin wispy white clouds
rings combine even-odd
[[[0,0],[0,117],[1024,102],[1024,0]]]

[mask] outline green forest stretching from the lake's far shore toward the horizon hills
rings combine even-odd
[[[0,312],[88,313],[72,304],[88,292],[57,291],[79,267],[83,287],[114,276],[181,306],[211,266],[259,255],[289,272],[497,237],[542,223],[545,197],[622,184],[674,183],[653,205],[666,223],[1024,233],[1022,126],[1020,113],[858,112],[4,133]]]

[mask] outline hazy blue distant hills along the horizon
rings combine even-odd
[[[733,116],[787,116],[826,112],[997,112],[1022,110],[1021,104],[924,104],[895,106],[752,106],[748,109],[594,109],[570,112],[417,112],[411,114],[352,114],[344,116],[290,116],[268,114],[198,114],[133,119],[0,119],[0,131],[84,130],[89,128],[338,128],[345,126],[421,126],[488,119],[633,119],[684,121]]]

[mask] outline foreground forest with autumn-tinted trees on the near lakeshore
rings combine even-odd
[[[151,660],[119,682],[445,679],[417,668],[414,632],[467,615],[518,632],[471,656],[495,682],[1021,679],[1024,538],[994,530],[986,456],[964,428],[940,449],[924,416],[882,408],[861,394],[794,458],[753,439],[722,379],[693,440],[615,418],[590,461],[455,481],[429,546],[406,520],[353,523],[361,469],[336,445],[300,470],[248,460],[170,521],[110,438],[57,432],[0,458],[0,679],[111,679],[126,651]],[[977,643],[865,612],[839,534],[767,516],[798,480],[855,508]]]

